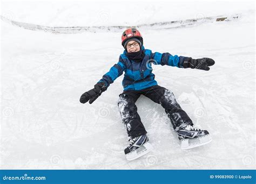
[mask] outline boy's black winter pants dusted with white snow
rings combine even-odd
[[[193,125],[190,117],[181,109],[170,90],[158,85],[139,91],[126,90],[119,95],[118,108],[129,140],[147,133],[135,105],[140,95],[150,98],[165,109],[175,131],[188,124]]]

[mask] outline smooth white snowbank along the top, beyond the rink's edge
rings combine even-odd
[[[71,3],[72,2],[72,3]],[[134,26],[254,9],[245,1],[2,1],[2,16],[44,26]]]

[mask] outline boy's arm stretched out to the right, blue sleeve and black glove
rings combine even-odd
[[[170,53],[155,52],[150,57],[157,65],[169,65],[179,68],[196,68],[210,70],[209,66],[214,65],[215,61],[211,58],[192,59],[190,57],[172,55]]]

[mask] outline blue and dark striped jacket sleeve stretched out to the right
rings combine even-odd
[[[156,65],[162,65],[162,66],[168,65],[168,66],[183,68],[182,63],[185,57],[172,55],[168,52],[163,54],[159,52],[155,52],[151,54],[150,58],[154,60],[154,64]]]

